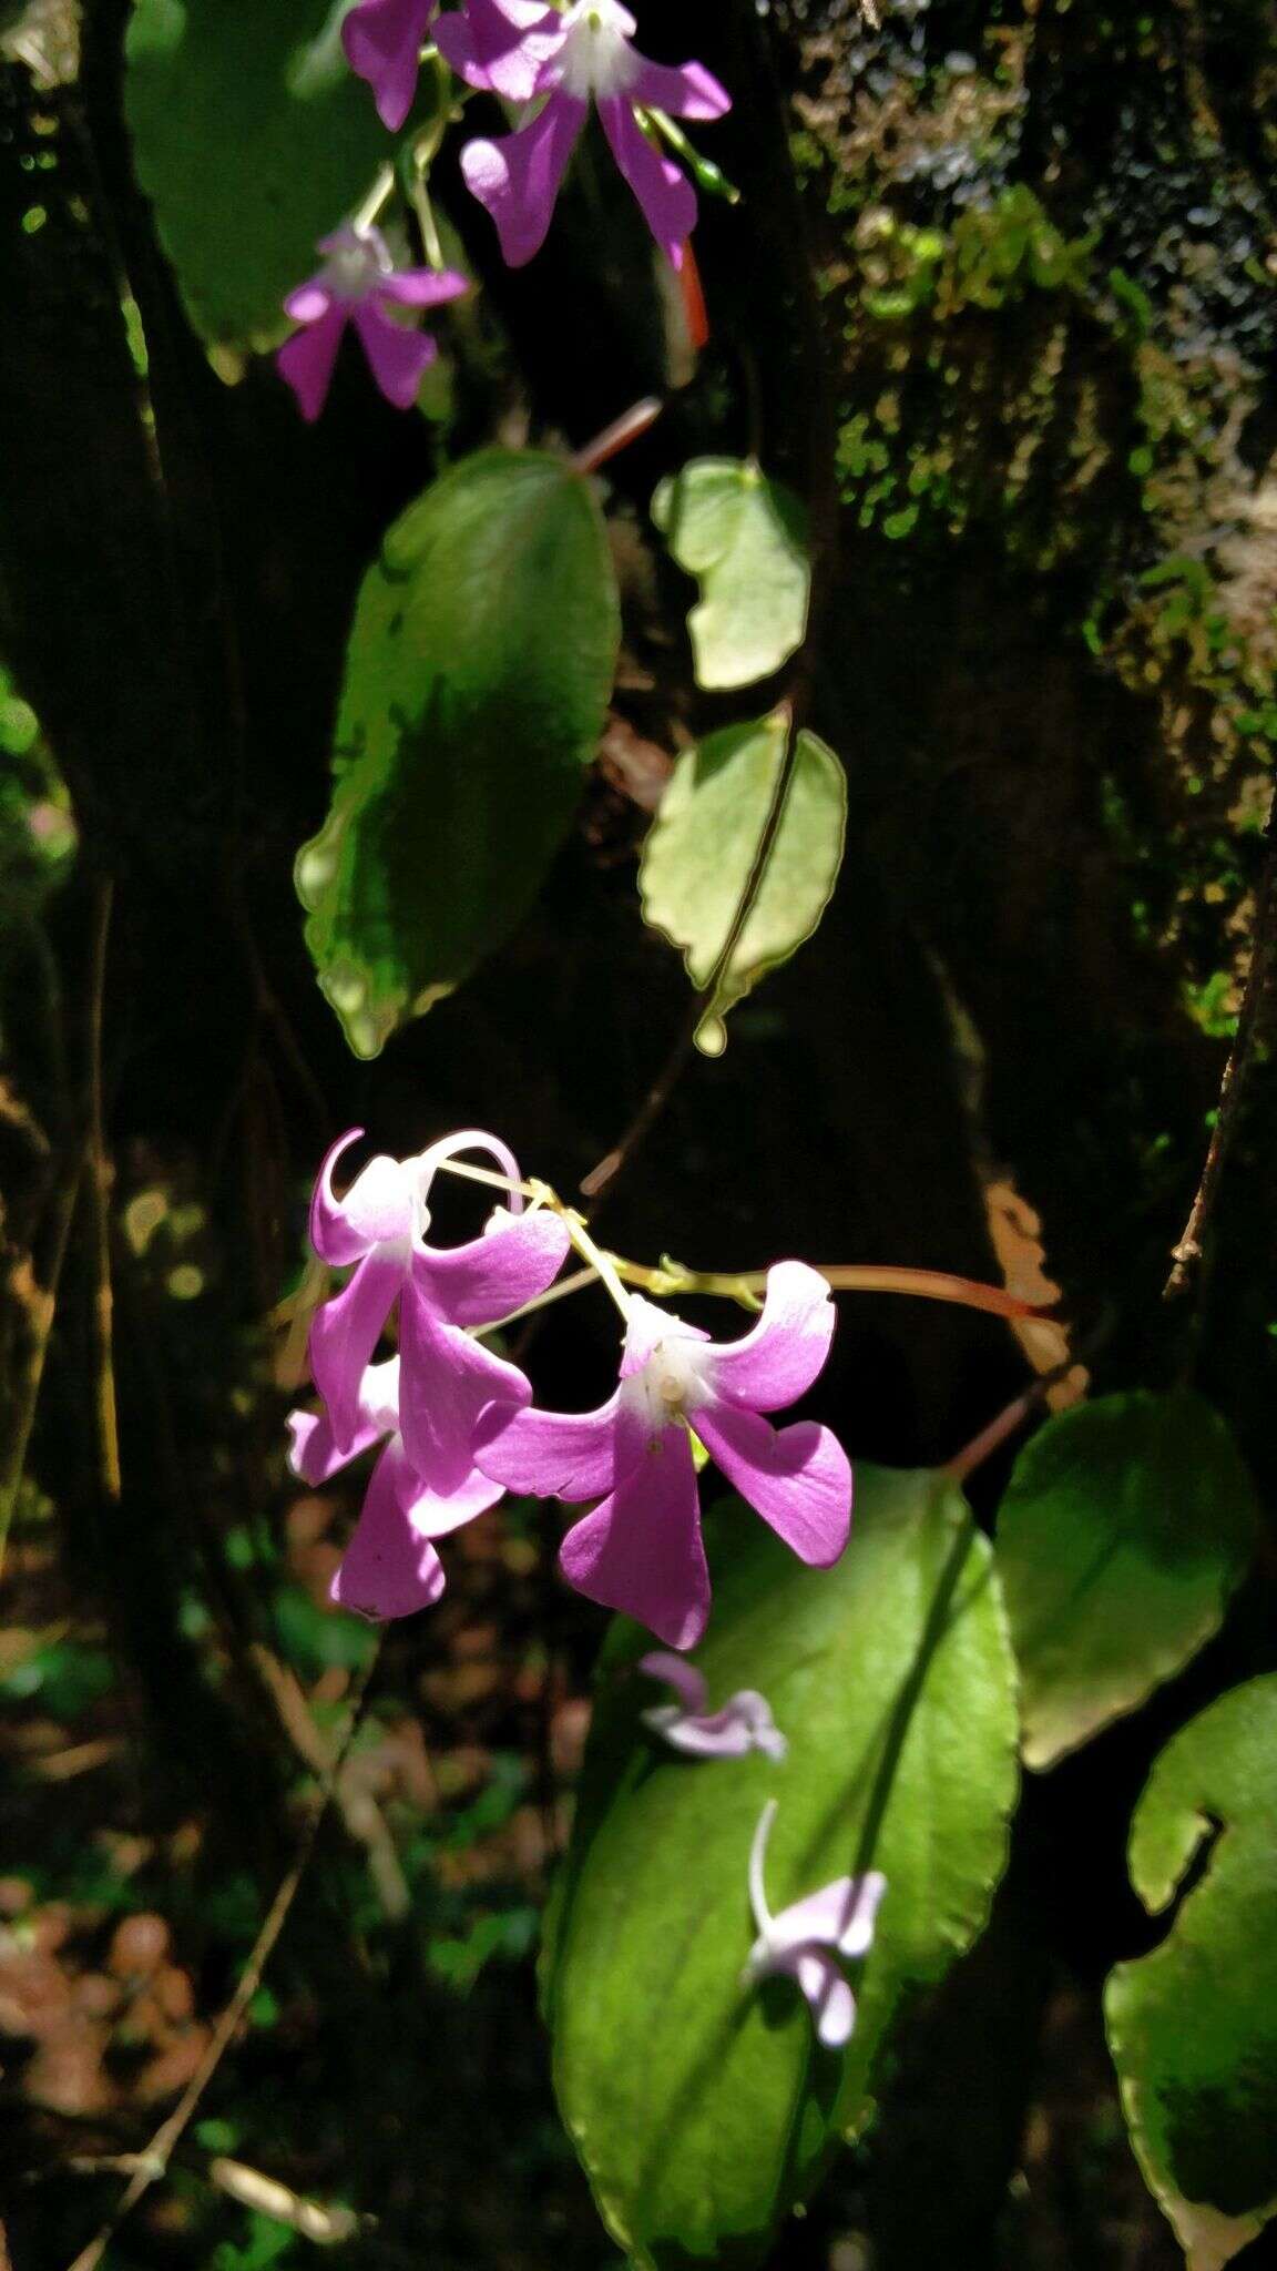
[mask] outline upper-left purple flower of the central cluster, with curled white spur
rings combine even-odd
[[[334,1269],[354,1274],[311,1324],[311,1374],[348,1451],[359,1428],[364,1374],[400,1297],[404,1374],[402,1440],[418,1476],[448,1497],[475,1472],[473,1442],[482,1415],[489,1431],[502,1413],[532,1401],[523,1372],[484,1349],[466,1326],[500,1324],[545,1292],[568,1251],[559,1215],[523,1213],[523,1199],[500,1206],[484,1235],[464,1247],[432,1247],[429,1185],[457,1151],[486,1151],[500,1174],[520,1181],[518,1163],[498,1136],[461,1129],[418,1158],[368,1160],[336,1199],[332,1170],[364,1129],[350,1129],[327,1154],[311,1199],[311,1245]],[[495,1406],[495,1410],[493,1410]]]

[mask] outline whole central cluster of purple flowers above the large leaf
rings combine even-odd
[[[334,1597],[368,1617],[404,1617],[439,1599],[434,1540],[502,1490],[595,1506],[566,1535],[577,1592],[625,1610],[666,1646],[691,1649],[709,1619],[693,1433],[763,1522],[813,1567],[848,1542],[852,1469],[827,1426],[773,1428],[829,1354],[834,1304],[804,1263],[768,1272],[763,1313],[743,1340],[711,1342],[652,1301],[627,1299],[616,1394],[593,1413],[532,1410],[525,1374],[477,1335],[536,1301],[559,1274],[570,1231],[548,1206],[523,1210],[504,1142],[464,1129],[418,1158],[373,1158],[339,1199],[332,1176],[354,1129],[320,1167],[311,1245],[350,1281],[316,1313],[311,1372],[323,1415],[293,1413],[293,1469],[323,1483],[382,1447]],[[509,1183],[484,1235],[427,1240],[434,1176],[484,1151]],[[398,1313],[400,1354],[377,1363]]]

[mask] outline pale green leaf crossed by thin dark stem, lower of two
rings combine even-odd
[[[686,974],[709,986],[759,856],[788,749],[788,713],[709,734],[679,756],[643,845],[643,915],[684,949]],[[759,979],[811,938],[825,913],[848,829],[848,777],[816,734],[800,734],[784,813],[748,922],[698,1047],[720,1056],[725,1015]]]

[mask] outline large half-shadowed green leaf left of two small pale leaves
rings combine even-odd
[[[332,808],[298,856],[307,945],[357,1056],[529,908],[618,636],[602,520],[564,459],[484,450],[386,536],[350,634]]]

